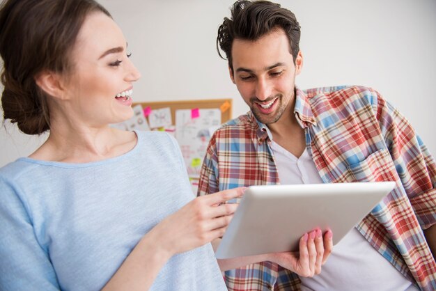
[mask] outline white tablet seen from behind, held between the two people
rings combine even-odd
[[[395,182],[251,186],[219,244],[219,259],[297,251],[315,228],[337,244],[394,189]]]

